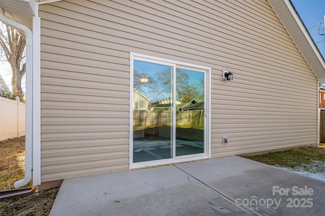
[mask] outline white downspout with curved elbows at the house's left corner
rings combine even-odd
[[[26,135],[25,135],[25,176],[15,182],[15,188],[28,184],[32,174],[32,33],[29,28],[4,15],[1,10],[0,21],[26,35]]]

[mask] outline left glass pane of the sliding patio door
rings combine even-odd
[[[133,162],[173,158],[173,66],[134,60]]]

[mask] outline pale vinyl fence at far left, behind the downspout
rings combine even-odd
[[[0,97],[0,141],[24,136],[25,118],[25,103]]]

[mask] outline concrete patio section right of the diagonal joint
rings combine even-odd
[[[176,166],[252,213],[324,215],[325,182],[315,178],[236,156]]]

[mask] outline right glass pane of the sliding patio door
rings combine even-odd
[[[204,95],[204,72],[176,68],[176,156],[205,153]]]

